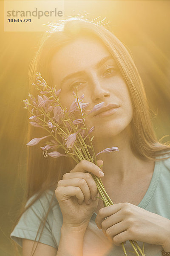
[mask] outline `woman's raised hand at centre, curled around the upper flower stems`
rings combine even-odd
[[[100,166],[102,160],[98,160]],[[101,169],[94,163],[82,160],[71,172],[63,175],[55,191],[60,209],[62,211],[63,225],[76,230],[88,226],[99,199],[97,186],[90,173],[103,177]]]

